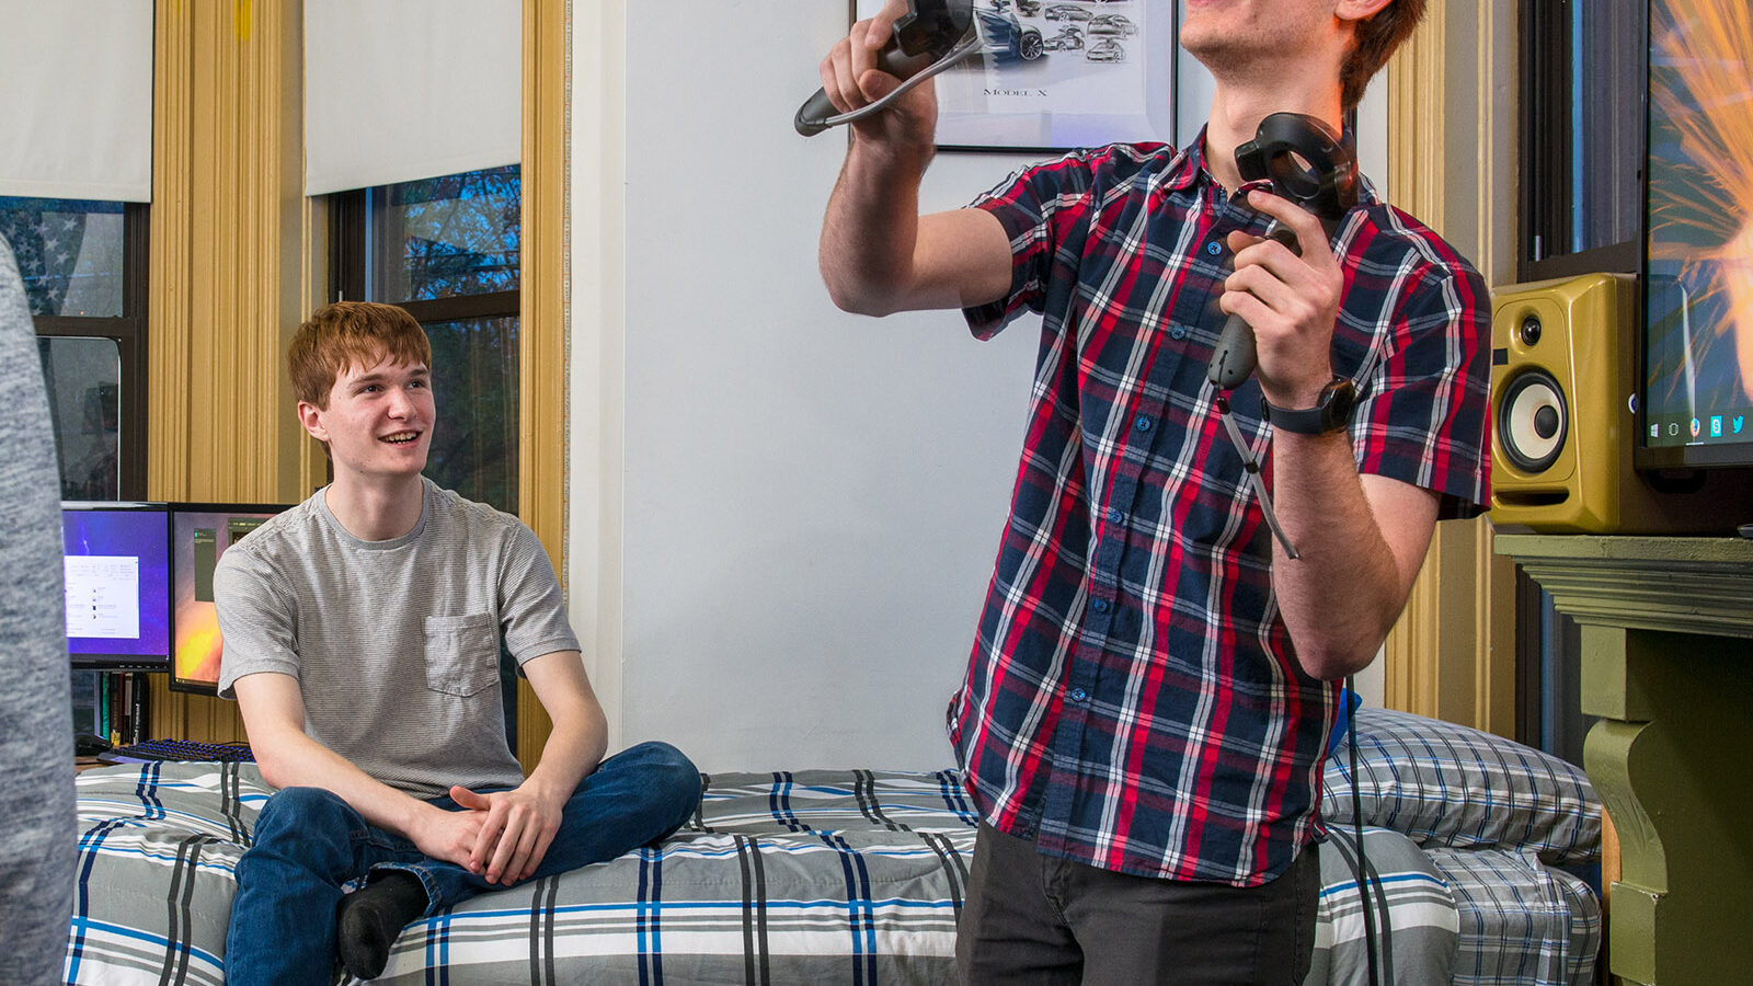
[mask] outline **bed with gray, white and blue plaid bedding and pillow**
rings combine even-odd
[[[1581,772],[1399,712],[1360,711],[1357,732],[1367,865],[1339,756],[1308,982],[1367,982],[1366,897],[1383,982],[1593,982],[1600,907],[1576,870],[1599,860],[1599,804]],[[153,763],[77,784],[65,981],[219,984],[261,775]],[[955,982],[973,833],[948,770],[710,775],[675,837],[417,921],[379,982]]]

